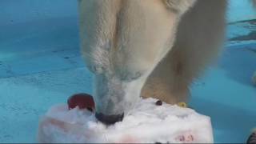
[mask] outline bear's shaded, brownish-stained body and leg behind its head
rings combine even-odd
[[[150,74],[142,96],[169,103],[186,102],[190,84],[218,57],[225,14],[226,1],[198,1],[182,17],[174,46]]]

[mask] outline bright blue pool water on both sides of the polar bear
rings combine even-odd
[[[227,39],[256,30],[238,22],[253,15],[239,5],[248,3],[231,2]],[[0,6],[0,142],[35,142],[38,120],[50,106],[92,92],[79,52],[76,2],[2,0]],[[191,86],[190,106],[211,117],[215,142],[245,142],[256,126],[254,39],[226,42],[218,63]]]

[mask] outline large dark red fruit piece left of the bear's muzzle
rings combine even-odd
[[[69,109],[74,109],[76,106],[79,109],[90,111],[94,111],[95,109],[94,98],[90,94],[74,94],[67,100],[67,104],[69,105]]]

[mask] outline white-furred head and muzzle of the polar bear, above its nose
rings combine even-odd
[[[80,20],[82,53],[95,73],[97,110],[125,111],[170,50],[177,14],[158,0],[88,0],[80,2]]]

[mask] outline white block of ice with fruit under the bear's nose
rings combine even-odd
[[[38,127],[38,142],[212,143],[210,118],[190,108],[142,99],[122,122],[105,126],[94,114],[66,104],[53,106]]]

